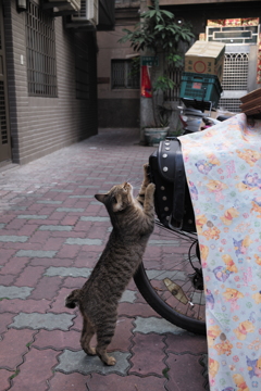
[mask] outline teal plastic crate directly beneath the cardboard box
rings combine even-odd
[[[182,75],[179,98],[211,101],[216,108],[221,92],[222,87],[215,75],[199,75],[190,72],[184,72]]]

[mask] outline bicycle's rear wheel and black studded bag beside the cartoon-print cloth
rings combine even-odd
[[[147,268],[144,262],[134,280],[144,299],[159,315],[183,329],[204,335],[206,298],[200,250],[178,146],[179,141],[175,138],[162,141],[158,151],[150,156],[149,163],[153,172],[151,181],[156,184],[156,200],[158,200],[156,213],[159,219],[156,220],[156,229],[163,229],[164,232],[176,238],[178,251],[172,258],[167,256],[162,258],[154,269]],[[170,160],[169,168],[164,166],[167,160]],[[164,171],[167,173],[163,173]],[[178,186],[174,191],[175,181]],[[183,205],[186,211],[182,211]],[[174,216],[175,211],[171,212],[171,209],[177,210],[177,217]],[[181,214],[178,217],[179,212],[182,217]]]

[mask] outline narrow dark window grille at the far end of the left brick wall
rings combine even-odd
[[[86,42],[75,40],[76,99],[89,99],[89,52]]]

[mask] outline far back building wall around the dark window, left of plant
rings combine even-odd
[[[120,2],[119,2],[120,3]],[[114,31],[98,31],[98,122],[99,127],[139,127],[139,89],[112,89],[111,61],[135,52],[129,42],[119,43],[123,28],[132,29],[138,21],[138,2],[116,4]],[[123,7],[129,7],[124,10]],[[132,7],[135,5],[136,9]]]

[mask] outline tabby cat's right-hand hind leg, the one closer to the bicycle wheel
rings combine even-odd
[[[100,325],[97,325],[97,346],[96,353],[107,365],[115,365],[116,360],[107,354],[107,348],[111,343],[112,337],[114,336],[116,326],[116,318],[113,320],[104,321]]]

